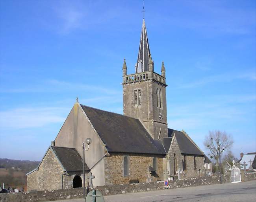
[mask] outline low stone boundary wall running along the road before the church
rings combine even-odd
[[[256,180],[256,173],[242,174],[242,181]],[[223,183],[230,182],[230,175],[222,176]],[[180,187],[190,187],[199,185],[218,184],[219,176],[205,176],[200,178],[189,178],[184,180],[169,181],[170,189]],[[108,185],[96,187],[103,195],[115,195],[122,193],[135,193],[143,191],[153,191],[164,189],[163,182],[138,183],[138,184],[123,184],[123,185]],[[39,202],[50,200],[63,200],[69,198],[82,198],[83,189],[59,189],[52,191],[35,191],[35,192],[19,192],[19,193],[4,193],[0,194],[0,202]]]

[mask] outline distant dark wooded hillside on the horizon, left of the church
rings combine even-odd
[[[31,171],[37,167],[39,161],[21,161],[21,160],[12,160],[7,158],[0,158],[0,168],[19,169],[22,171]]]

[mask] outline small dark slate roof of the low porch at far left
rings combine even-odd
[[[83,170],[83,159],[75,148],[53,146],[51,146],[51,148],[56,154],[59,162],[64,167],[65,171]],[[86,163],[85,170],[90,170]]]

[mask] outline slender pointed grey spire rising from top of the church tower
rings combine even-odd
[[[139,43],[139,54],[136,63],[136,73],[147,72],[148,71],[148,61],[149,61],[149,45],[148,45],[148,35],[145,26],[145,19],[143,18],[142,30],[141,30],[141,40]]]

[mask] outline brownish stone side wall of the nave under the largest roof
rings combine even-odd
[[[153,177],[153,181],[163,180],[163,158],[157,155],[128,154],[129,176],[124,176],[124,155],[111,154],[105,157],[105,185],[129,184],[130,180],[146,182],[148,166],[153,166],[153,157],[157,157],[157,171],[159,178]]]

